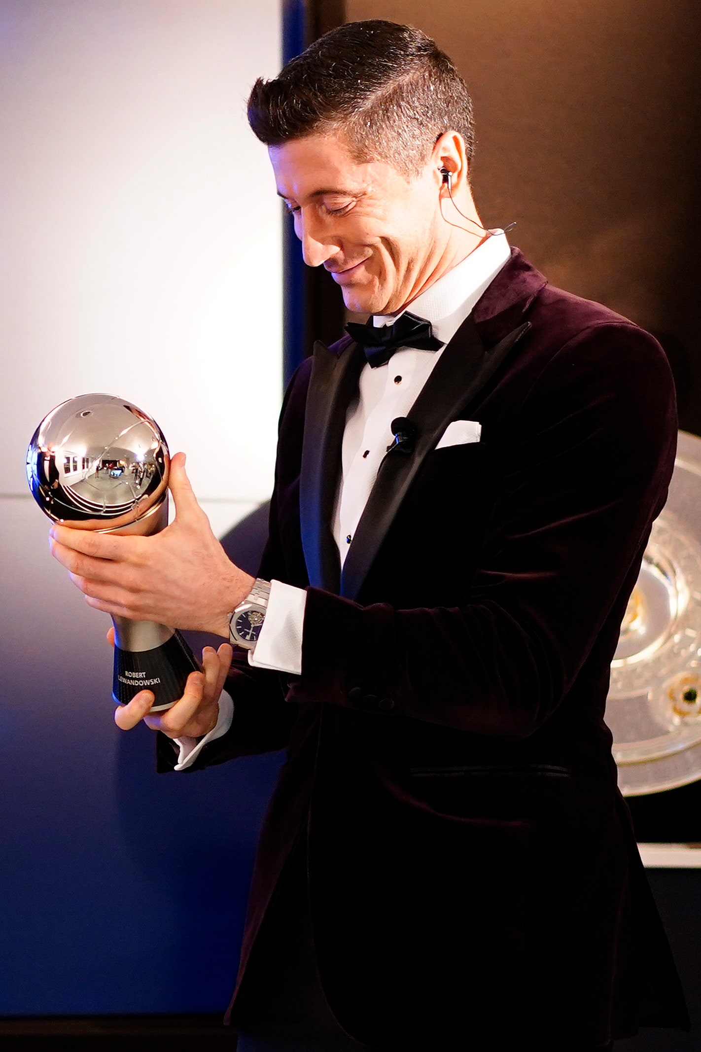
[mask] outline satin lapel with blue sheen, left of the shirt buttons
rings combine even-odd
[[[300,523],[309,584],[332,592],[338,592],[340,579],[332,517],[341,469],[345,411],[357,392],[364,362],[362,348],[356,343],[341,353],[329,350],[323,343],[314,345],[304,412]]]

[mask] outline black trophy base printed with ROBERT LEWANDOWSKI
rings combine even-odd
[[[162,712],[182,697],[189,673],[199,671],[195,654],[178,631],[151,650],[115,646],[112,696],[117,705],[126,705],[140,690],[151,690],[156,696],[151,711]]]

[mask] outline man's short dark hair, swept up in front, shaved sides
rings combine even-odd
[[[248,123],[267,146],[342,133],[358,161],[383,160],[418,175],[444,132],[459,132],[467,157],[475,130],[467,85],[430,37],[372,19],[324,34],[274,80],[258,78]]]

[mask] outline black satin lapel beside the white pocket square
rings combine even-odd
[[[472,315],[460,326],[407,413],[419,436],[414,452],[393,449],[380,464],[343,564],[341,595],[356,599],[424,458],[529,328],[524,322],[486,350]]]

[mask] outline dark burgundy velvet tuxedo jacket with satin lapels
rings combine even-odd
[[[363,363],[349,338],[317,344],[280,419],[260,574],[307,589],[302,673],[237,655],[232,727],[196,765],[287,750],[231,1019],[303,830],[322,985],[358,1040],[514,1052],[684,1028],[604,723],[673,471],[666,358],[513,249],[408,413],[415,447],[384,458],[341,573]],[[481,441],[437,450],[465,419]]]

